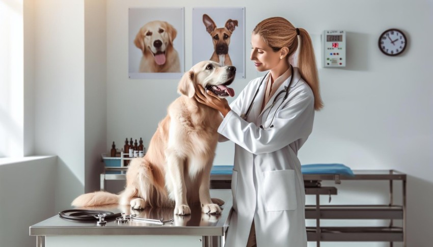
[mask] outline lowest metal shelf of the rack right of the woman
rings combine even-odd
[[[307,227],[308,241],[403,241],[403,230],[399,227],[320,227],[317,239],[315,227]]]

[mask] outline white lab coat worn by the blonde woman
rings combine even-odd
[[[297,68],[292,76],[288,98],[278,108],[273,128],[259,126],[270,125],[284,94],[272,109],[270,105],[287,87],[290,77],[260,112],[265,79],[245,121],[240,115],[247,111],[262,77],[250,81],[232,102],[232,111],[218,129],[220,141],[226,138],[235,143],[233,210],[226,247],[247,245],[253,219],[258,247],[307,246],[304,180],[297,151],[312,131],[314,96]]]

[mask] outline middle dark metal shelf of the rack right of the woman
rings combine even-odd
[[[317,218],[316,206],[305,206],[305,217]],[[320,205],[320,219],[403,219],[402,206]]]

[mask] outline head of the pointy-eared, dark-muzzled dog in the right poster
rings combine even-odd
[[[237,20],[228,19],[224,28],[217,28],[217,25],[206,14],[203,15],[203,23],[206,31],[210,34],[213,41],[213,48],[218,55],[229,52],[230,37],[237,26]]]

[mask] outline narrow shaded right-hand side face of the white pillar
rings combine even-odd
[[[99,190],[106,145],[105,0],[85,1],[85,191]],[[120,145],[120,143],[118,144]]]

